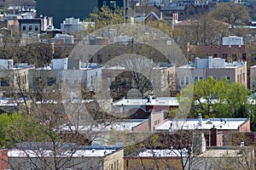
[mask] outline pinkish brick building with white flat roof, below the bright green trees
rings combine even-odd
[[[199,131],[205,133],[208,146],[230,145],[231,133],[251,132],[247,118],[169,119],[155,127],[157,132]]]

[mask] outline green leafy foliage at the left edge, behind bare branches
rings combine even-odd
[[[44,142],[47,128],[32,116],[15,113],[0,115],[0,146],[11,148],[19,142]]]

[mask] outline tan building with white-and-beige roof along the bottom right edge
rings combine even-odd
[[[202,135],[203,138],[203,135]],[[200,139],[199,139],[200,140]],[[202,139],[203,140],[203,139]],[[124,157],[125,170],[129,169],[254,169],[254,150],[249,147],[211,147],[199,144],[195,148],[144,149]],[[195,146],[195,145],[194,145]]]

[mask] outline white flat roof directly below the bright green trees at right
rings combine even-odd
[[[243,123],[247,122],[247,118],[209,118],[202,119],[202,126],[199,126],[199,119],[177,119],[168,120],[163,122],[159,127],[155,127],[155,130],[192,130],[192,129],[206,129],[209,130],[212,127],[218,130],[236,130]],[[172,126],[172,127],[171,127]]]

